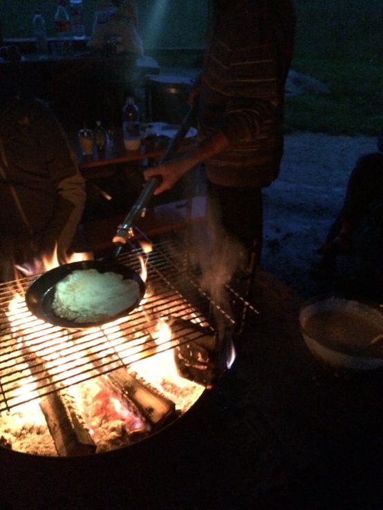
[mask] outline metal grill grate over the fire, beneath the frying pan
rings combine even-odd
[[[139,254],[146,258],[134,249],[119,262],[139,272]],[[198,275],[189,272],[185,260],[174,240],[155,245],[140,307],[124,319],[87,330],[58,328],[30,314],[22,295],[35,277],[1,285],[0,411],[197,340],[206,330],[216,334],[217,318],[232,327],[233,317],[200,290]],[[15,300],[17,293],[21,297]],[[184,320],[175,321],[171,341],[159,346],[153,332],[160,317]],[[190,321],[200,325],[192,338],[189,329],[185,337]]]

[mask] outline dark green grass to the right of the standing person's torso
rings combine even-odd
[[[377,135],[383,131],[383,8],[380,0],[295,0],[292,68],[315,77],[328,94],[286,102],[286,129]]]

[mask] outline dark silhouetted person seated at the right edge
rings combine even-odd
[[[353,253],[355,229],[368,214],[373,214],[371,207],[382,206],[382,202],[383,133],[377,137],[377,152],[359,158],[351,172],[343,207],[317,250],[322,257],[312,264],[312,276],[330,276],[336,271],[337,255]]]

